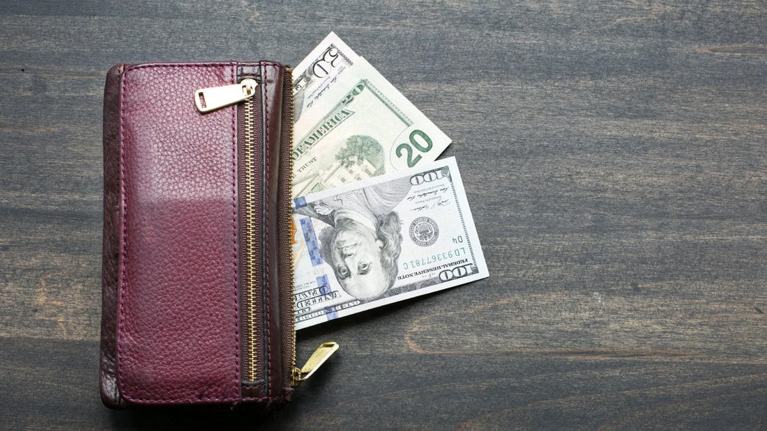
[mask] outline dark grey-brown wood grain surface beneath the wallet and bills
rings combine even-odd
[[[0,427],[767,428],[765,2],[0,5]],[[301,331],[266,417],[97,393],[101,96],[329,31],[450,137],[490,278]]]

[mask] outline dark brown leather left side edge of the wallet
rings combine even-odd
[[[101,263],[99,388],[104,405],[124,407],[117,387],[117,265],[120,250],[120,74],[112,67],[104,86],[104,230]]]

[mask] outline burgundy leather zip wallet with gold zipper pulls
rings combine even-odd
[[[291,399],[291,70],[119,64],[104,90],[107,407]]]

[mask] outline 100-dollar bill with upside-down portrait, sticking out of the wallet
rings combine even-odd
[[[455,158],[293,201],[296,328],[487,277]]]

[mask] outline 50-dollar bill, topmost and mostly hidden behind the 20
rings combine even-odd
[[[293,68],[293,121],[298,121],[359,56],[334,32]]]

